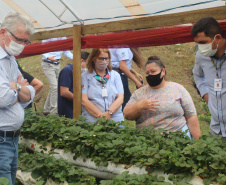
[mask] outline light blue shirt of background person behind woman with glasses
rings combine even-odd
[[[109,49],[111,53],[111,65],[113,68],[119,68],[119,61],[126,60],[129,70],[132,69],[133,53],[129,48]]]

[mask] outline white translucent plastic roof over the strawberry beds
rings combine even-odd
[[[0,0],[0,22],[9,12],[19,12],[37,21],[36,28],[55,30],[223,5],[223,0]]]

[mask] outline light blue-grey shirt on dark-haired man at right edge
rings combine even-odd
[[[204,57],[197,52],[193,74],[201,96],[209,94],[211,130],[226,137],[226,53],[220,58],[212,58],[212,60],[214,64],[210,57]],[[218,78],[217,76],[222,79],[221,91],[214,91],[214,80]]]

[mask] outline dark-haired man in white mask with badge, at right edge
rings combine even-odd
[[[218,22],[212,17],[200,19],[191,34],[198,44],[195,83],[208,103],[211,113],[210,133],[226,141],[226,39]]]

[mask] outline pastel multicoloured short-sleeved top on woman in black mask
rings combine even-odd
[[[143,110],[138,117],[137,127],[142,129],[148,126],[163,128],[169,131],[179,131],[185,124],[185,115],[196,115],[196,109],[188,91],[180,84],[169,82],[161,89],[151,89],[146,85],[136,90],[126,106],[142,100],[158,100],[159,108],[156,112]]]

